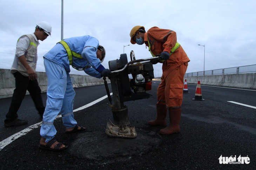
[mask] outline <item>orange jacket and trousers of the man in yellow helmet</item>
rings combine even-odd
[[[170,53],[177,42],[177,37],[175,31],[152,27],[144,34],[144,43],[147,46],[148,40],[151,53],[157,55],[163,51]],[[157,88],[157,104],[166,104],[168,107],[181,106],[183,77],[189,61],[186,52],[179,46],[170,58],[163,62],[163,75]]]

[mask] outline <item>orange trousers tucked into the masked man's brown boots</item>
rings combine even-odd
[[[157,88],[157,104],[168,107],[181,107],[183,99],[183,79],[188,68],[188,62],[176,67],[166,77],[161,77]]]

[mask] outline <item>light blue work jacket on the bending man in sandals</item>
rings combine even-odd
[[[101,65],[100,59],[96,56],[99,41],[91,36],[71,37],[64,41],[68,44],[70,50],[81,54],[83,59],[73,57],[73,66],[93,77],[101,78],[101,72],[105,67]],[[48,60],[64,67],[66,72],[70,72],[68,54],[62,44],[57,43],[44,56]],[[91,66],[91,67],[88,67]]]

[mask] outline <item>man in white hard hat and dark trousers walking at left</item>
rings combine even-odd
[[[8,113],[6,114],[5,126],[19,126],[28,123],[27,120],[18,119],[18,110],[21,102],[28,90],[35,104],[36,110],[42,117],[45,106],[42,102],[41,89],[36,80],[35,73],[37,56],[37,47],[39,40],[45,40],[52,32],[52,27],[48,22],[41,21],[36,24],[35,32],[26,34],[18,39],[16,44],[15,58],[11,68],[11,73],[15,77],[15,86],[12,102]],[[22,116],[25,116],[24,114]]]

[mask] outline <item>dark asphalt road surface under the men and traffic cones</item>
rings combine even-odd
[[[256,169],[255,90],[201,85],[204,101],[194,101],[196,85],[188,84],[181,132],[161,135],[163,126],[147,124],[156,116],[159,83],[153,82],[150,98],[125,102],[137,132],[133,139],[106,135],[113,116],[108,98],[96,101],[106,95],[103,85],[75,89],[74,110],[85,106],[74,112],[75,119],[87,131],[66,134],[56,118],[55,138],[68,146],[57,152],[38,148],[41,119],[29,95],[18,112],[29,123],[17,127],[4,127],[11,98],[0,99],[0,169]],[[46,103],[46,94],[42,97]]]

